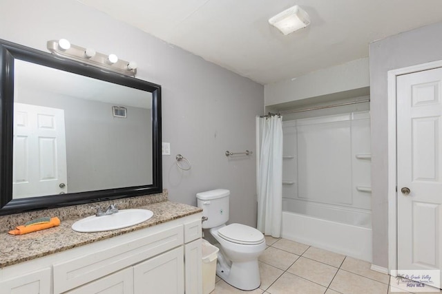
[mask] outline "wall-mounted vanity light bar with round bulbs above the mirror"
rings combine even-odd
[[[115,54],[102,54],[92,48],[82,48],[71,44],[66,39],[51,40],[47,43],[48,50],[57,56],[73,59],[88,65],[100,67],[126,76],[137,74],[137,63],[118,59]]]

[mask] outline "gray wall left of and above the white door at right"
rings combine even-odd
[[[372,114],[373,264],[388,267],[387,72],[442,59],[442,23],[369,45]]]

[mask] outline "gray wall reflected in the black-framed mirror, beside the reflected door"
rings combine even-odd
[[[35,89],[15,101],[64,109],[69,193],[152,184],[151,109],[126,106],[115,118],[111,103]]]

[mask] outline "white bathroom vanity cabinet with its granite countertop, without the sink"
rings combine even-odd
[[[1,293],[202,293],[200,209],[159,202],[133,227],[0,236]],[[9,252],[6,252],[8,248]]]

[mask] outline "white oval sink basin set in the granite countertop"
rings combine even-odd
[[[153,212],[148,209],[122,209],[108,216],[88,216],[77,220],[72,229],[81,233],[111,231],[141,224],[152,216]]]

